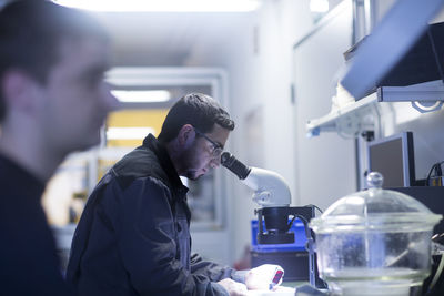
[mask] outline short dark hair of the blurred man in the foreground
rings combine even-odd
[[[44,84],[57,64],[62,40],[91,37],[108,41],[91,16],[43,0],[12,1],[0,11],[0,81],[11,69],[24,71]],[[0,91],[0,120],[6,113]]]

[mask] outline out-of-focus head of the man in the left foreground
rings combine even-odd
[[[0,119],[32,118],[62,152],[100,141],[117,105],[103,82],[109,39],[84,12],[48,1],[14,1],[0,11]]]

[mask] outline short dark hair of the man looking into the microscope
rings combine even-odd
[[[214,123],[229,131],[234,130],[234,121],[218,101],[202,93],[190,93],[171,108],[158,139],[163,143],[170,142],[185,124],[193,125],[202,133],[209,133]]]

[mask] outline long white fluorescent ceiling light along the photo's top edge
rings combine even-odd
[[[94,11],[235,12],[253,11],[260,0],[52,0],[52,2]]]

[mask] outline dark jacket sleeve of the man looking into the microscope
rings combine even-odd
[[[114,186],[118,186],[115,183]],[[228,295],[202,273],[193,274],[178,258],[171,193],[157,178],[138,178],[120,198],[115,217],[120,257],[140,295]]]

